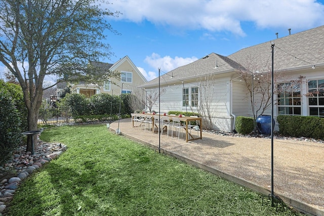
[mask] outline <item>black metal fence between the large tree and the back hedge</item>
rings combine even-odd
[[[73,121],[68,110],[60,110],[56,107],[40,109],[37,124],[58,124]]]

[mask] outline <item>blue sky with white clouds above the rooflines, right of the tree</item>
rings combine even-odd
[[[147,80],[210,53],[242,48],[324,25],[324,0],[110,0],[107,42],[114,63],[129,56]],[[323,32],[324,34],[324,32]]]

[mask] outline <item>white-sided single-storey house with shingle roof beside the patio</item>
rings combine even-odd
[[[227,57],[211,53],[141,88],[146,94],[158,92],[160,80],[163,92],[160,106],[155,103],[153,110],[160,107],[163,113],[209,109],[213,128],[233,131],[236,116],[253,116],[251,94],[242,79],[242,71],[250,73],[251,80],[271,74],[271,42],[274,42],[274,87],[285,87],[273,95],[274,118],[277,115],[324,117],[324,26],[248,47]],[[255,93],[255,104],[261,96]],[[263,114],[270,115],[270,108]]]

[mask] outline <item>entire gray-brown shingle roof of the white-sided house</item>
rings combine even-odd
[[[311,68],[312,65],[324,63],[324,26],[319,26],[239,50],[228,57],[211,53],[195,62],[169,71],[163,76],[174,77],[168,81],[171,83],[195,76],[240,70],[248,64],[255,64],[255,70],[260,72],[266,71],[269,70],[272,62],[271,42],[274,42],[275,70],[298,69],[303,66]],[[215,68],[216,61],[217,68]],[[142,87],[154,86],[157,83],[158,77]]]

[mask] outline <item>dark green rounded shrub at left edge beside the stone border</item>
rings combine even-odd
[[[21,143],[21,120],[14,101],[8,91],[0,89],[0,164]]]

